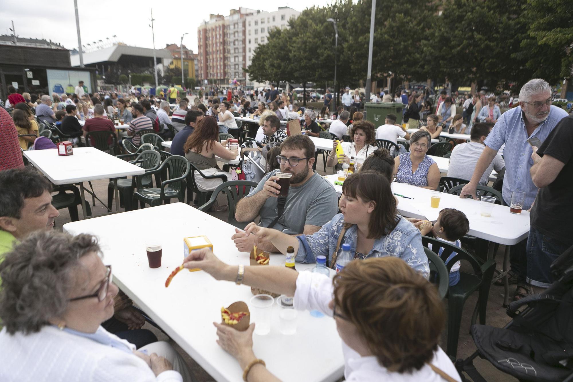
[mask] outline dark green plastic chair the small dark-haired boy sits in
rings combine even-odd
[[[464,304],[475,291],[479,293],[477,305],[480,314],[480,324],[485,325],[489,287],[492,282],[493,272],[496,269],[496,262],[492,259],[486,261],[484,264],[480,264],[476,258],[463,248],[458,248],[455,245],[434,239],[433,237],[422,236],[422,244],[426,248],[428,244],[431,244],[431,251],[434,252],[434,254],[442,250],[439,258],[441,258],[443,262],[445,262],[453,252],[456,252],[456,256],[446,264],[448,275],[452,266],[458,260],[468,262],[473,269],[473,274],[460,271],[460,282],[454,286],[450,286],[448,291],[448,345],[446,354],[456,358]],[[475,319],[472,318],[470,325],[473,325],[475,323],[474,321]]]

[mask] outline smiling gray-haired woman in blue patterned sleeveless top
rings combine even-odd
[[[431,145],[427,131],[416,131],[410,138],[410,152],[394,158],[396,182],[435,190],[439,184],[439,169],[434,159],[426,155]]]

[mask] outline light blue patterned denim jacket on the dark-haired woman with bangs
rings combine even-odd
[[[359,256],[359,259],[381,258],[383,256],[396,256],[404,260],[409,266],[414,268],[425,278],[430,275],[428,259],[422,247],[422,235],[417,228],[402,216],[396,228],[386,236],[382,236],[374,241],[372,251],[368,255]],[[344,226],[344,215],[339,213],[331,221],[324,224],[318,232],[312,235],[299,235],[299,252],[296,254],[296,261],[299,263],[314,263],[316,256],[324,255],[330,260],[331,254],[336,250],[336,243],[340,232]],[[340,241],[342,244],[350,244],[351,253],[356,252],[356,237],[358,227],[352,225],[344,232],[344,237]],[[339,248],[340,250],[340,248]]]

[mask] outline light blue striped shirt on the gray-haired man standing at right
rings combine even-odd
[[[505,143],[503,157],[505,161],[505,178],[503,181],[503,198],[507,205],[511,202],[512,191],[525,192],[523,209],[529,209],[537,195],[537,187],[531,180],[529,169],[533,165],[531,154],[533,150],[527,139],[537,137],[541,142],[547,139],[555,125],[567,116],[567,112],[560,107],[551,106],[547,119],[535,128],[533,134],[527,136],[527,129],[523,120],[521,107],[515,107],[504,112],[497,120],[485,145],[498,151]]]

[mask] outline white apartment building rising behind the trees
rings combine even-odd
[[[291,18],[299,17],[300,11],[291,7],[278,7],[278,10],[255,11],[245,17],[245,50],[246,60],[245,68],[248,67],[253,59],[254,49],[260,44],[266,44],[269,32],[272,28],[288,28],[288,21]],[[233,71],[231,71],[233,72]],[[259,87],[265,84],[259,84],[249,79],[247,74],[246,85],[248,87]]]

